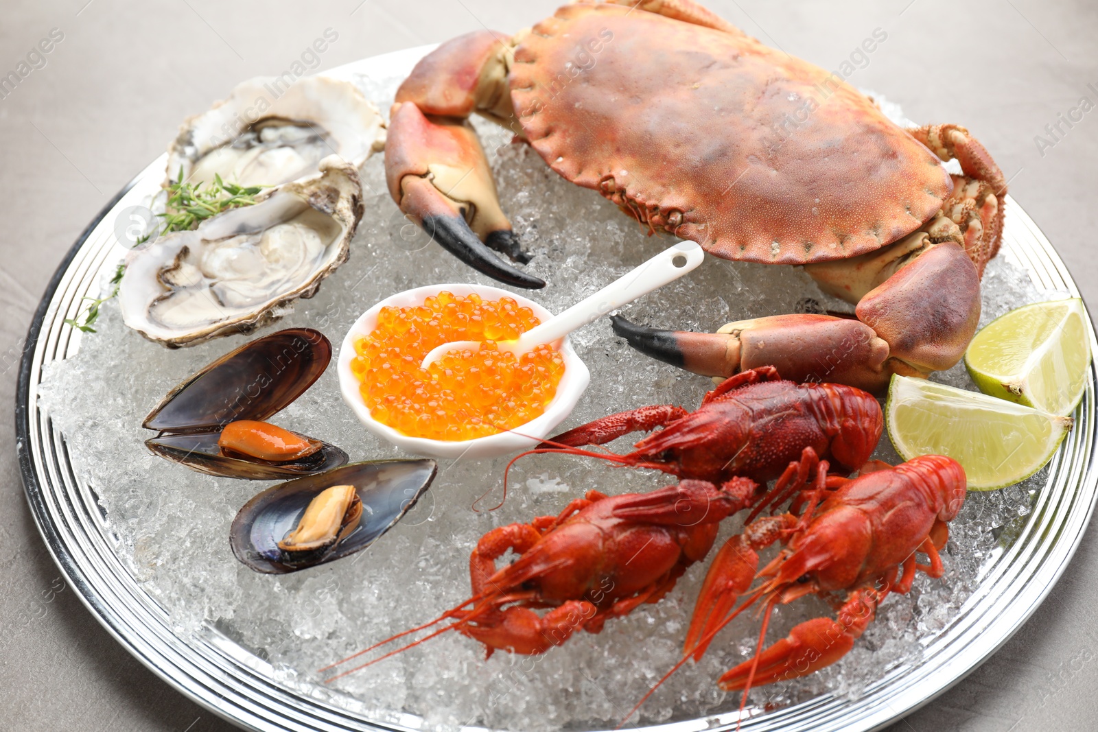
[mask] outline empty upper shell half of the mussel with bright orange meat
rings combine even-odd
[[[320,330],[272,333],[226,353],[176,386],[142,426],[193,432],[237,419],[265,421],[304,394],[330,360],[332,342]]]

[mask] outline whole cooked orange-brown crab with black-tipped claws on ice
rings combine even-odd
[[[727,376],[879,392],[952,367],[979,319],[1006,184],[956,125],[903,129],[838,76],[769,48],[691,0],[576,2],[509,38],[449,41],[396,93],[385,149],[401,210],[462,261],[523,288],[525,263],[468,123],[508,126],[568,180],[650,232],[726,259],[804,264],[856,319],[777,315],[718,334],[615,318],[635,347]],[[950,176],[942,160],[963,171]]]

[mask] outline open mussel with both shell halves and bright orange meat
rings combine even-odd
[[[257,338],[181,383],[145,418],[158,455],[224,477],[277,480],[347,462],[339,448],[266,420],[313,385],[332,360],[318,330]]]

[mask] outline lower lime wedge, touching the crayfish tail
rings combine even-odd
[[[893,376],[885,424],[904,460],[949,455],[975,491],[1001,488],[1039,471],[1072,428],[1071,417],[925,379]]]

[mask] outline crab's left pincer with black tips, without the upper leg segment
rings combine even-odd
[[[488,160],[470,126],[428,119],[413,102],[394,105],[385,176],[401,211],[458,259],[516,288],[545,286],[492,251],[524,264],[530,259],[500,209]]]

